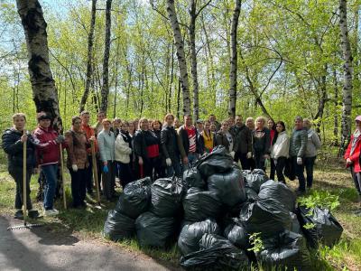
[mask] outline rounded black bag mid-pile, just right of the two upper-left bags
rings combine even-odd
[[[183,199],[184,219],[202,221],[217,219],[222,212],[222,202],[216,192],[190,188]]]

